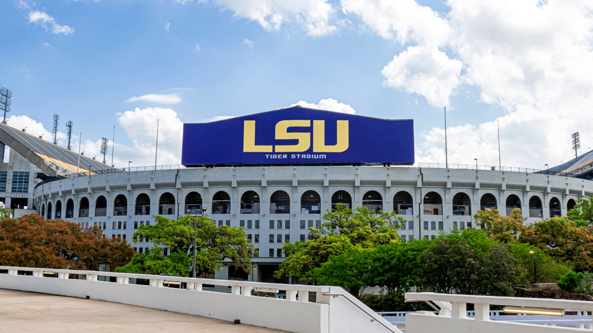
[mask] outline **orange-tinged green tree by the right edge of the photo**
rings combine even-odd
[[[579,227],[566,217],[552,217],[528,226],[519,236],[519,241],[546,249],[546,253],[555,260],[577,271],[589,271],[593,267],[591,229],[588,226]]]

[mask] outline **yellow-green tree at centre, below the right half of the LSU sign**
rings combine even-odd
[[[320,228],[309,228],[308,241],[284,245],[286,258],[276,271],[276,277],[313,281],[321,264],[331,255],[340,255],[355,245],[364,249],[400,242],[394,225],[404,221],[394,213],[372,212],[366,207],[352,211],[344,204],[328,210],[323,219],[327,222],[321,223]]]

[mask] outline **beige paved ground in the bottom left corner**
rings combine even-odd
[[[0,332],[279,332],[139,306],[0,289]]]

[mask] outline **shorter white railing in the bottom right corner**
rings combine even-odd
[[[432,302],[441,308],[438,315],[428,311],[406,313],[406,332],[412,333],[435,331],[484,333],[574,332],[584,331],[585,325],[588,325],[588,331],[591,331],[592,326],[591,316],[588,316],[588,312],[593,313],[593,302],[582,300],[439,293],[406,293],[406,300]],[[467,303],[473,303],[473,311],[467,311]],[[576,316],[570,319],[551,318],[551,316],[543,318],[544,316],[540,315],[506,316],[500,311],[491,311],[490,305],[537,309],[570,309],[576,312]],[[390,322],[401,325],[398,320],[391,320]]]

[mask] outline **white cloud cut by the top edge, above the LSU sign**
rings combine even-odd
[[[256,21],[267,31],[278,31],[282,24],[290,22],[303,25],[310,36],[324,36],[337,31],[336,26],[330,23],[335,9],[327,0],[211,1],[223,9],[233,11],[237,17]]]

